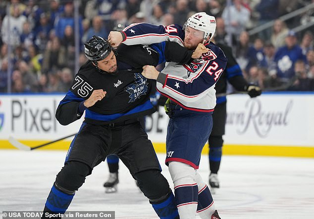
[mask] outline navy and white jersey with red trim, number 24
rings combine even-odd
[[[183,46],[185,35],[179,25],[165,27],[147,23],[132,24],[122,33],[123,43],[127,45],[175,41]],[[185,65],[166,63],[157,78],[157,90],[184,109],[211,113],[216,105],[215,83],[224,71],[227,59],[212,42],[206,47],[209,52],[199,60]]]

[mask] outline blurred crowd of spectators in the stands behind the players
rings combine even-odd
[[[76,0],[78,16],[73,2],[0,1],[0,92],[7,92],[8,75],[13,93],[66,92],[75,49],[84,64],[83,44],[92,36],[106,38],[118,24],[183,25],[200,11],[216,17],[214,40],[232,47],[250,83],[264,90],[314,91],[314,28],[292,31],[314,22],[314,9],[278,19],[314,0]],[[269,21],[271,28],[249,34]]]

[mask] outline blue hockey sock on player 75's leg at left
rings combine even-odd
[[[67,194],[60,190],[58,190],[54,185],[48,195],[45,209],[49,209],[53,213],[64,214],[64,212],[69,207],[74,194]],[[44,210],[45,214],[45,210]]]

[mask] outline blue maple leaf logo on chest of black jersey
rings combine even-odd
[[[129,103],[140,99],[140,97],[147,94],[148,91],[147,78],[144,77],[141,73],[134,73],[134,75],[135,82],[125,88],[125,91],[130,94]]]

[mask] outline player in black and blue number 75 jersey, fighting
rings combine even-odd
[[[127,166],[159,218],[179,218],[173,193],[160,173],[154,147],[138,121],[139,117],[154,112],[149,100],[151,82],[141,74],[141,68],[165,60],[186,63],[197,51],[182,50],[176,43],[156,45],[159,53],[141,45],[121,45],[114,51],[107,40],[96,36],[84,47],[89,61],[80,68],[59,103],[56,119],[67,125],[85,111],[85,120],[53,183],[43,218],[51,218],[49,213],[63,214],[75,191],[108,154],[117,154]]]

